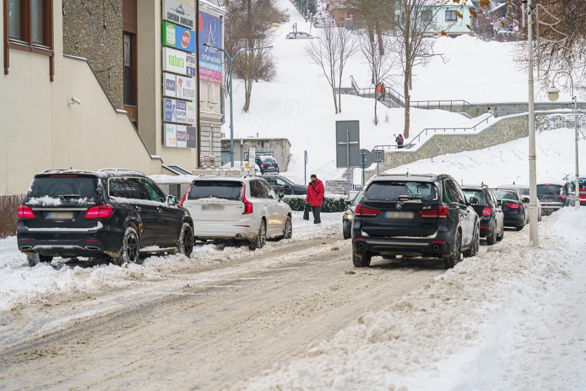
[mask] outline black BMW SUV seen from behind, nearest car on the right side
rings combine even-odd
[[[479,217],[453,177],[382,174],[356,205],[352,261],[366,267],[375,255],[424,256],[451,268],[462,254],[477,254],[479,231]]]

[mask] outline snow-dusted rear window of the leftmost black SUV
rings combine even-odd
[[[98,199],[98,179],[77,175],[50,175],[32,181],[25,203],[58,206],[85,205]]]

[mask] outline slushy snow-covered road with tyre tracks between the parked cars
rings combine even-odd
[[[124,287],[3,313],[8,389],[214,390],[292,359],[444,273],[441,262],[351,265],[339,234],[187,264]],[[254,258],[252,258],[254,254]]]

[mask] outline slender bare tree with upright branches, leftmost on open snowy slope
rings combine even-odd
[[[328,23],[329,24],[329,23]],[[334,111],[336,114],[342,111],[341,93],[344,67],[350,56],[358,50],[358,38],[345,27],[324,27],[320,39],[314,39],[307,43],[305,53],[312,62],[319,65],[329,87],[332,88],[334,98]],[[336,96],[336,89],[338,94]]]

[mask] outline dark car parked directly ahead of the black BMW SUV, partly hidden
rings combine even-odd
[[[497,197],[486,185],[462,186],[466,198],[474,197],[478,203],[470,203],[480,217],[480,237],[486,238],[486,244],[494,245],[505,236],[504,214]]]

